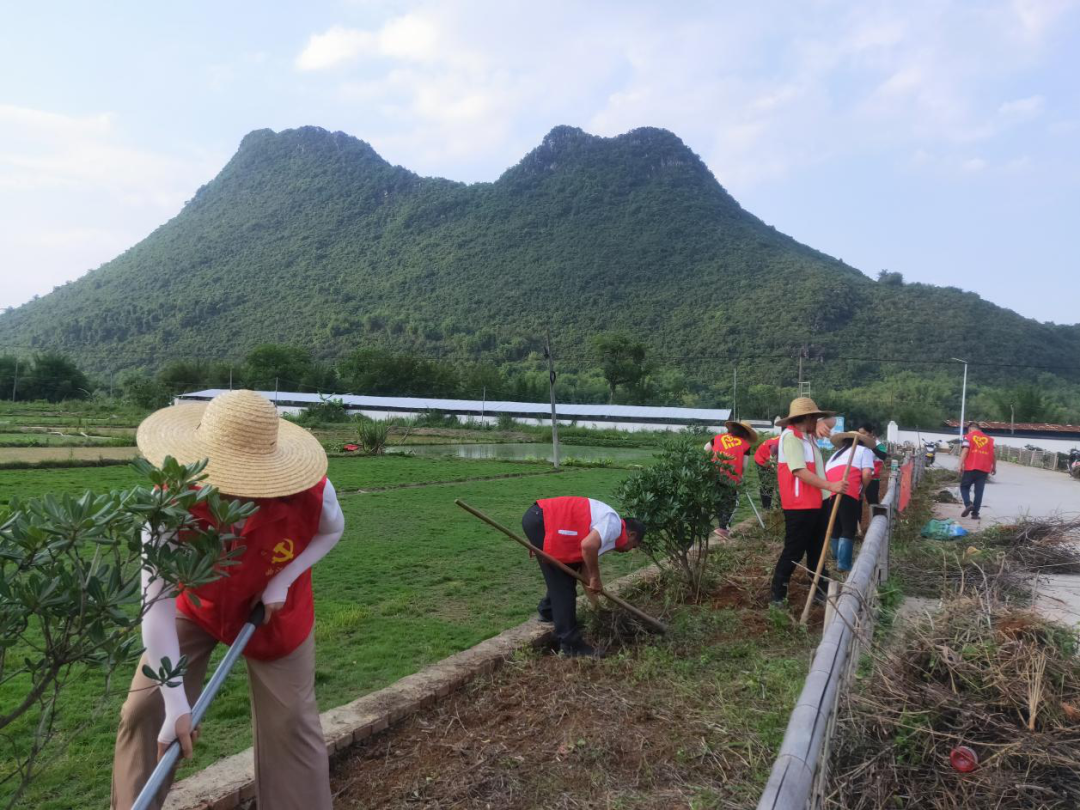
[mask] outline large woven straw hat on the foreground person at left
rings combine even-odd
[[[206,483],[240,498],[280,498],[313,487],[326,474],[326,451],[303,428],[279,418],[254,391],[228,391],[208,403],[151,414],[135,436],[153,464],[204,458]]]

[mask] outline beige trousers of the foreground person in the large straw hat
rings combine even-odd
[[[217,639],[183,618],[176,620],[176,632],[180,654],[188,657],[184,688],[194,705]],[[259,810],[330,810],[329,761],[315,704],[314,633],[276,661],[245,661],[252,689]],[[144,657],[120,711],[112,761],[113,810],[130,810],[158,760],[158,732],[165,720],[165,704],[153,681],[143,674],[145,662]],[[206,732],[214,733],[213,728],[207,726]],[[152,805],[154,810],[167,793],[165,785]]]

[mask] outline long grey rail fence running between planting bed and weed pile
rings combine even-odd
[[[910,487],[922,477],[922,454],[912,464]],[[889,476],[851,573],[833,583],[826,625],[802,692],[792,711],[784,741],[772,766],[758,810],[816,810],[828,777],[828,753],[836,732],[839,696],[851,683],[861,650],[870,644],[877,619],[877,588],[889,577],[889,541],[899,515],[902,468]]]

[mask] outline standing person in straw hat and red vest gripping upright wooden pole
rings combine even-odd
[[[809,396],[800,396],[780,420],[784,432],[777,455],[777,488],[784,511],[784,550],[772,573],[773,604],[787,598],[787,582],[802,557],[808,567],[816,566],[828,528],[828,499],[847,486],[847,482],[823,477],[825,463],[814,441],[819,420],[832,416],[833,411],[822,410]],[[825,598],[828,572],[824,575],[815,599]]]

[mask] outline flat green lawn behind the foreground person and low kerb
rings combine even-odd
[[[527,476],[462,481],[522,473]],[[455,507],[455,498],[519,528],[522,513],[537,498],[585,495],[612,500],[626,471],[566,469],[553,474],[541,464],[386,457],[332,459],[329,474],[341,494],[348,528],[314,572],[316,683],[324,710],[474,645],[532,612],[542,593],[536,563]],[[14,495],[78,494],[87,487],[134,483],[136,476],[126,467],[0,471],[0,502]],[[431,485],[356,492],[409,483]],[[609,555],[604,570],[613,579],[645,562],[638,555]],[[114,694],[96,716],[92,706],[102,678],[87,673],[73,681],[59,716],[70,735],[60,741],[67,747],[37,778],[19,807],[60,810],[106,804],[112,734],[129,677],[126,671],[118,674]],[[205,721],[199,756],[185,773],[249,745],[244,680],[243,673],[237,673],[221,692]],[[0,688],[0,705],[10,704],[17,693],[17,685]]]

